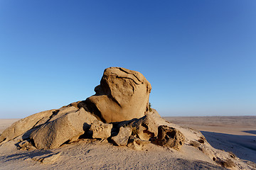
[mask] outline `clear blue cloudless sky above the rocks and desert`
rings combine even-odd
[[[0,118],[84,100],[116,66],[144,74],[163,116],[256,115],[255,9],[255,0],[0,0]]]

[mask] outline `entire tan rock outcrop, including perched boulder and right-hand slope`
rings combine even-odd
[[[169,123],[149,109],[150,91],[149,81],[139,72],[107,68],[95,95],[18,120],[0,135],[0,146],[12,140],[18,149],[53,149],[83,138],[132,149],[149,143],[176,150],[186,145],[206,154],[214,164],[228,168],[240,164],[228,152],[211,147],[201,132]],[[34,159],[49,162],[48,157],[59,156]]]

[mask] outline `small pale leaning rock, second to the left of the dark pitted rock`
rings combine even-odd
[[[125,146],[129,140],[129,136],[132,135],[132,128],[121,127],[117,136],[112,137],[111,139],[118,146]]]

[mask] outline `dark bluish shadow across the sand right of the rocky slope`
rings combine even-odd
[[[249,130],[247,132],[255,132]],[[218,132],[201,131],[206,140],[216,149],[233,152],[240,159],[256,163],[256,136],[230,135]]]

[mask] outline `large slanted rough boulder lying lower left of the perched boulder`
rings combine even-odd
[[[97,120],[95,116],[80,108],[42,125],[31,133],[30,138],[38,149],[57,148],[82,135],[94,120]]]

